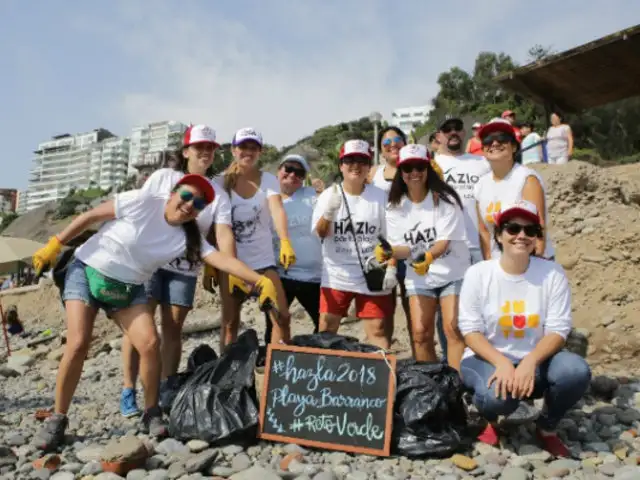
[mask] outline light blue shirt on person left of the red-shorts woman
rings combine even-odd
[[[320,283],[322,278],[322,246],[320,238],[311,232],[311,216],[316,205],[317,194],[311,187],[300,187],[289,198],[282,199],[287,212],[289,239],[293,251],[296,252],[296,263],[286,272],[282,265],[278,273],[283,278],[301,282]],[[276,258],[280,257],[280,241],[274,238]]]

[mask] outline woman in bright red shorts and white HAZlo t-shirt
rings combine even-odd
[[[367,183],[373,155],[364,140],[349,140],[340,149],[342,182],[318,197],[311,229],[322,239],[320,331],[336,333],[349,305],[356,302],[356,316],[365,320],[371,344],[387,349],[390,341],[385,319],[392,314],[391,290],[397,285],[395,271],[382,271],[377,282],[370,269],[379,235],[385,236],[384,190]],[[346,201],[345,201],[346,200]],[[365,270],[370,278],[365,278]],[[380,280],[382,280],[380,282]],[[369,287],[374,288],[371,290]]]

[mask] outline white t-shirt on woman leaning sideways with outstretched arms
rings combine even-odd
[[[164,218],[167,198],[142,190],[118,193],[114,199],[115,220],[75,251],[75,256],[103,275],[140,285],[158,268],[183,255],[187,246],[181,225]],[[215,249],[202,236],[201,256]]]

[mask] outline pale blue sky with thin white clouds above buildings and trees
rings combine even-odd
[[[0,0],[0,188],[53,135],[179,120],[283,146],[429,104],[481,51],[525,63],[639,19],[638,0]]]

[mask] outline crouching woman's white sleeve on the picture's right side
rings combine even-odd
[[[562,267],[555,268],[546,282],[547,305],[544,320],[544,334],[557,333],[566,340],[571,332],[571,287]]]

